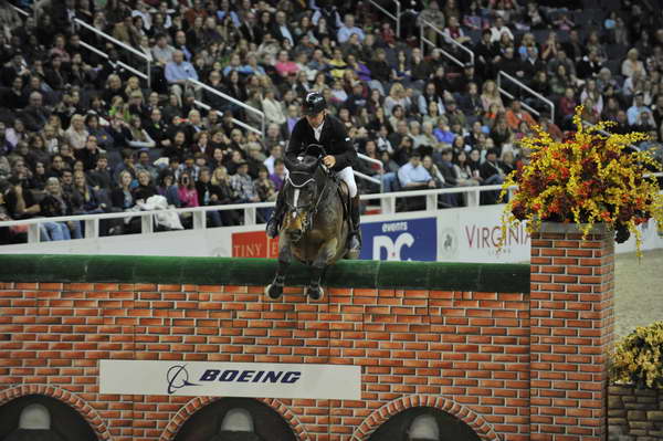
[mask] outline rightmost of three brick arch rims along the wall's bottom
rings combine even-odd
[[[483,441],[499,441],[499,438],[493,431],[491,424],[488,424],[480,414],[470,410],[470,408],[444,397],[425,395],[401,397],[376,409],[361,422],[361,424],[359,424],[357,430],[355,430],[350,441],[368,440],[368,435],[391,417],[403,410],[415,407],[429,407],[442,410],[470,426]]]

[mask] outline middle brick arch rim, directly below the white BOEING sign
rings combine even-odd
[[[203,407],[211,405],[214,401],[221,400],[223,397],[196,397],[188,401],[181,409],[170,419],[159,441],[172,441],[180,428],[189,418]],[[282,401],[275,398],[256,398],[259,402],[269,406],[272,410],[281,416],[292,429],[293,433],[299,441],[308,441],[309,437],[304,429],[304,426],[295,413]]]

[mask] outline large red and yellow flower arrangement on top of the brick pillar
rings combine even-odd
[[[555,141],[546,132],[523,138],[520,145],[532,151],[528,164],[505,179],[502,198],[518,186],[502,216],[502,238],[506,230],[527,220],[527,230],[537,231],[541,221],[575,222],[587,237],[594,223],[603,222],[624,242],[633,233],[640,254],[638,225],[654,218],[663,225],[663,196],[651,170],[661,169],[649,151],[628,151],[628,146],[646,135],[607,134],[612,123],[586,128],[582,107],[576,108],[577,127],[568,139]],[[649,167],[649,169],[648,169]]]

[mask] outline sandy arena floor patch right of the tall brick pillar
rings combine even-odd
[[[663,321],[663,250],[615,258],[615,334],[623,337],[636,326]]]

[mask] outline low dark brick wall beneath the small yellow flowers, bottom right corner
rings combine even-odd
[[[610,386],[609,441],[663,440],[663,390]]]

